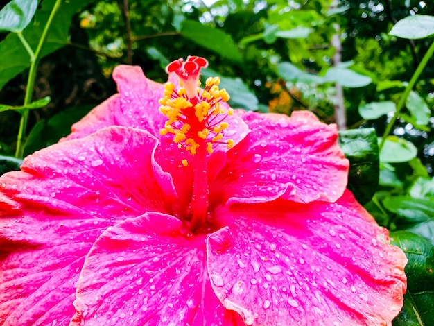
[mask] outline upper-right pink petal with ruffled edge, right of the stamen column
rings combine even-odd
[[[284,198],[299,203],[336,201],[347,185],[349,163],[337,144],[336,126],[308,111],[258,114],[238,111],[251,132],[227,152],[214,180],[214,196],[229,203]]]

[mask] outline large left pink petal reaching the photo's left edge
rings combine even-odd
[[[153,160],[156,146],[148,132],[106,128],[45,148],[0,178],[0,322],[67,325],[101,232],[150,209],[171,211],[175,192]]]

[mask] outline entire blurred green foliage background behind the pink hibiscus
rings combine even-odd
[[[349,188],[409,259],[408,294],[394,325],[434,323],[431,1],[14,0],[3,7],[1,173],[114,94],[116,65],[139,65],[163,83],[168,62],[203,56],[210,62],[203,76],[220,76],[235,108],[311,110],[338,123]]]

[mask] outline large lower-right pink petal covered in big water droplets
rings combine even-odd
[[[337,203],[221,207],[207,241],[216,295],[247,325],[391,325],[406,256],[349,191]]]

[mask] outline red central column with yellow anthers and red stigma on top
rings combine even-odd
[[[213,146],[234,146],[232,139],[223,141],[224,130],[229,126],[225,119],[234,111],[220,105],[229,100],[226,90],[218,88],[220,78],[208,78],[205,88],[202,91],[199,89],[200,69],[207,65],[206,59],[196,56],[189,56],[185,62],[182,59],[171,62],[166,67],[166,72],[177,74],[181,87],[177,89],[173,83],[167,83],[164,96],[159,100],[162,105],[159,110],[168,119],[160,134],[173,135],[173,141],[178,144],[178,148],[184,148],[189,153],[182,160],[182,164],[193,168],[190,214],[186,217],[193,231],[204,228],[207,223],[207,162],[209,155],[213,153]]]

